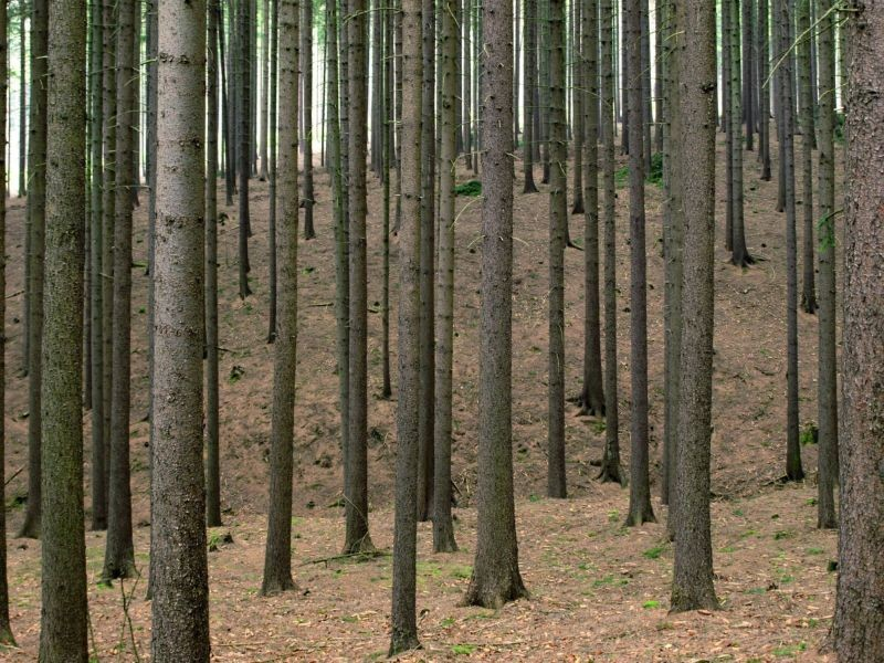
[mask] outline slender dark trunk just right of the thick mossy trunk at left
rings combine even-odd
[[[102,263],[102,127],[104,122],[102,88],[104,85],[103,45],[104,21],[101,0],[93,0],[91,8],[92,19],[92,88],[90,104],[92,107],[92,169],[90,183],[90,260],[92,280],[90,282],[90,298],[92,299],[92,528],[101,530],[107,528],[107,484],[105,477],[105,439],[104,439],[104,335],[102,312],[102,281],[104,265]]]

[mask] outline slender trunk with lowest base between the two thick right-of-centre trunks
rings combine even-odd
[[[629,88],[630,172],[630,346],[632,349],[630,418],[630,509],[627,525],[653,523],[648,457],[648,264],[644,242],[644,139],[642,127],[642,9],[629,0],[627,9],[627,77]]]

